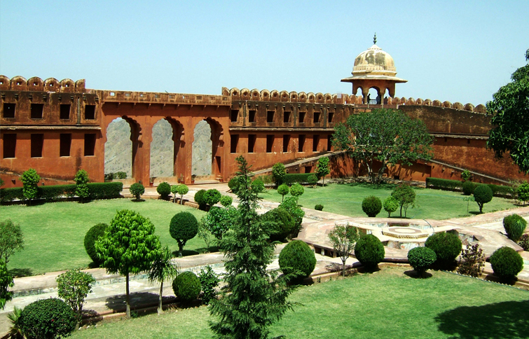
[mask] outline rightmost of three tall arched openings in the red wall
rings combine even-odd
[[[191,175],[212,175],[212,128],[206,120],[200,121],[193,130],[193,155]]]

